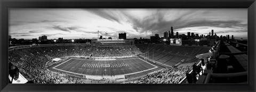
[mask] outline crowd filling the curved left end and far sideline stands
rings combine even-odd
[[[19,68],[19,72],[34,83],[60,83],[63,77],[46,68],[52,58],[65,56],[129,56],[134,55],[131,47],[91,47],[91,46],[50,46],[14,49],[9,51],[9,62]],[[52,58],[49,58],[52,57]]]

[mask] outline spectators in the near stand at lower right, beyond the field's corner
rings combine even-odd
[[[179,83],[190,70],[192,70],[191,66],[174,66],[127,83]]]

